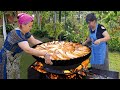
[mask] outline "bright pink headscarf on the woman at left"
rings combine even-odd
[[[19,24],[28,24],[29,22],[34,20],[34,17],[32,17],[29,14],[26,13],[20,13],[18,14],[18,23]]]

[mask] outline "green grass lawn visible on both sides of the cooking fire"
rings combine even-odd
[[[27,79],[27,69],[35,62],[35,59],[26,53],[23,54],[21,59],[21,79]],[[120,53],[109,52],[110,70],[120,72]]]

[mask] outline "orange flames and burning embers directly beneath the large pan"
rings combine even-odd
[[[86,59],[75,69],[61,70],[63,74],[47,72],[41,62],[35,62],[34,65],[31,66],[31,68],[40,73],[43,73],[48,79],[82,79],[86,76],[85,70],[87,70],[88,64],[89,59]]]

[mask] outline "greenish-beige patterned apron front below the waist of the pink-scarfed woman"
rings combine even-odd
[[[7,79],[20,79],[20,59],[22,53],[17,53],[15,56],[12,54],[13,52],[7,51]]]

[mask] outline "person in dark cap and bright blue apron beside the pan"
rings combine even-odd
[[[94,13],[86,16],[89,25],[90,35],[83,45],[91,41],[90,64],[92,68],[109,70],[107,41],[110,39],[105,27],[97,23]]]

